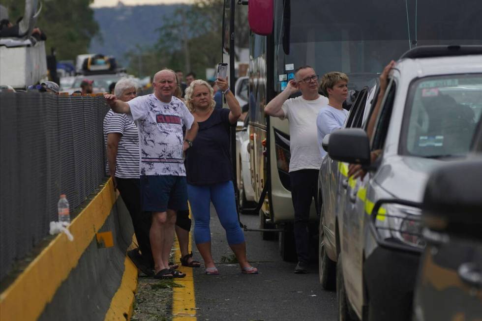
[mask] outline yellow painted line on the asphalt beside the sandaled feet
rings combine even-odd
[[[190,210],[189,210],[190,212]],[[189,253],[192,250],[192,237],[189,233]],[[179,248],[178,238],[174,240],[174,262],[180,262],[181,250]],[[192,267],[180,266],[179,270],[186,273],[186,276],[180,279],[174,279],[176,283],[183,288],[174,288],[172,315],[173,321],[196,321],[196,300],[194,297],[194,276]]]

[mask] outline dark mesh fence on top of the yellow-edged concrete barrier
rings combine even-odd
[[[0,92],[0,280],[105,178],[102,96]],[[72,217],[71,217],[72,218]]]

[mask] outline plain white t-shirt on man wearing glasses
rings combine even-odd
[[[281,109],[284,118],[290,122],[290,173],[304,169],[320,169],[322,159],[317,148],[316,116],[326,104],[328,98],[325,96],[315,100],[306,100],[299,96],[283,103]]]

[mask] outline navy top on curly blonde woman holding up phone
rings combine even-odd
[[[186,176],[191,185],[209,185],[233,179],[229,128],[229,109],[214,109],[186,150]]]

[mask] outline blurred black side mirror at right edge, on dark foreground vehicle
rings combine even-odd
[[[428,178],[422,219],[435,232],[482,239],[482,159],[448,164]]]

